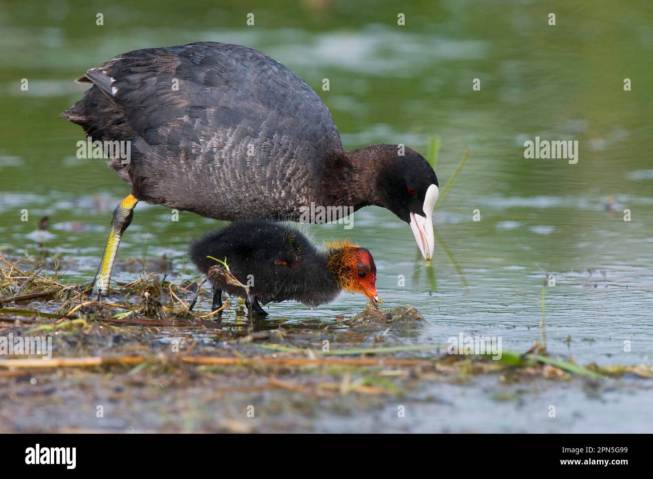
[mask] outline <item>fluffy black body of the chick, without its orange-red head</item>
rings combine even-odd
[[[208,256],[221,261],[226,257],[231,274],[249,287],[249,301],[255,309],[258,301],[295,300],[317,306],[333,301],[341,290],[335,274],[327,269],[327,253],[313,246],[296,227],[283,223],[232,223],[194,241],[190,255],[204,274],[219,264]],[[209,277],[216,290],[246,297],[244,288],[219,276]]]

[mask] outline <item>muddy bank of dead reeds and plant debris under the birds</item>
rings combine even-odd
[[[511,385],[538,380],[576,378],[595,391],[611,378],[653,377],[648,365],[582,366],[547,354],[539,343],[526,352],[503,350],[500,360],[448,354],[446,344],[415,344],[428,322],[413,306],[368,303],[349,319],[296,322],[252,320],[226,301],[219,321],[207,312],[211,295],[201,280],[173,283],[147,274],[116,284],[111,301],[93,302],[88,285],[63,284],[38,264],[0,261],[0,352],[1,339],[11,336],[52,338],[53,348],[47,360],[0,354],[0,397],[14,411],[1,431],[33,430],[33,407],[61,412],[64,406],[50,403],[49,395],[66,397],[65,408],[88,408],[88,391],[97,403],[117,398],[123,419],[142,412],[153,431],[253,432],[285,429],[275,421],[253,427],[239,419],[238,408],[255,405],[258,414],[275,418],[325,410],[335,417],[376,407],[359,397],[404,401],[436,384],[464,387],[479,376],[495,378],[488,392],[493,401],[520,401],[524,390]],[[203,419],[170,422],[189,414]],[[72,430],[114,428],[90,417],[73,421]],[[36,429],[71,430],[57,424]]]

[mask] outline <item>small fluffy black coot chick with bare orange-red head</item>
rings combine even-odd
[[[368,250],[347,241],[316,248],[283,223],[232,223],[193,241],[190,256],[213,284],[213,310],[222,305],[222,291],[244,297],[250,313],[264,315],[259,303],[295,300],[317,306],[334,301],[343,289],[378,299]]]

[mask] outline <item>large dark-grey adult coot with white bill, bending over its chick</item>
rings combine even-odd
[[[410,224],[430,263],[438,178],[428,162],[403,145],[343,150],[315,91],[263,53],[215,42],[146,48],[78,81],[93,85],[61,116],[111,146],[109,165],[131,186],[114,210],[91,298],[108,293],[138,201],[217,220],[311,222],[383,206]],[[315,206],[332,216],[307,218]]]

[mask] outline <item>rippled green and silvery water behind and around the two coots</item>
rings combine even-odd
[[[581,363],[646,363],[653,355],[653,7],[573,4],[1,3],[0,243],[37,254],[33,231],[48,216],[48,248],[63,254],[71,281],[89,280],[112,209],[129,189],[103,160],[76,158],[84,133],[57,118],[84,91],[72,80],[135,48],[244,44],[318,91],[347,149],[401,142],[425,153],[439,135],[436,172],[444,184],[470,148],[436,206],[449,254],[436,244],[430,270],[420,269],[408,225],[386,210],[360,210],[350,230],[306,228],[316,240],[349,237],[370,249],[384,305],[415,305],[430,322],[419,342],[443,343],[462,332],[501,336],[504,348],[526,350],[541,340],[543,281],[555,274],[556,286],[545,289],[551,352]],[[95,25],[97,12],[104,26]],[[247,12],[255,26],[246,26]],[[398,12],[405,26],[396,24]],[[547,24],[549,12],[555,26]],[[20,89],[22,78],[28,91]],[[323,78],[329,91],[321,90]],[[480,91],[472,90],[474,78]],[[536,136],[577,140],[578,163],[524,159],[524,141]],[[172,222],[169,210],[140,204],[119,259],[142,257],[147,245],[148,257],[172,258],[172,270],[159,273],[196,278],[187,242],[214,225],[190,213]],[[136,277],[133,269],[114,275]],[[268,310],[302,321],[353,315],[363,305],[361,296],[343,295],[314,310],[292,303]]]

